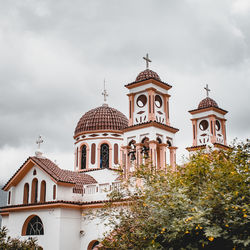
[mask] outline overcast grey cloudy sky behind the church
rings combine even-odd
[[[73,169],[80,117],[103,103],[128,114],[124,85],[150,68],[173,87],[178,162],[191,146],[188,110],[210,97],[227,137],[250,137],[249,0],[0,0],[0,182],[42,150]]]

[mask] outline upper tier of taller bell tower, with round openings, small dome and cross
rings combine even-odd
[[[158,74],[150,70],[146,60],[146,70],[142,71],[135,82],[127,84],[129,89],[129,126],[156,121],[170,125],[169,122],[169,97],[168,90],[172,88],[161,81]]]

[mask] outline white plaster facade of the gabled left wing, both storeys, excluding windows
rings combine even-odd
[[[118,171],[100,169],[88,173],[97,180],[97,183],[83,185],[84,193],[77,194],[73,193],[73,187],[56,184],[51,176],[39,166],[34,165],[15,187],[12,186],[9,189],[11,198],[8,205],[12,209],[7,209],[8,215],[3,214],[2,226],[8,228],[11,237],[25,239],[30,237],[30,235],[22,235],[25,221],[31,215],[36,215],[43,223],[44,234],[34,237],[38,239],[38,244],[45,250],[88,249],[89,244],[100,239],[107,228],[98,218],[89,219],[87,211],[91,208],[84,206],[84,203],[88,205],[88,202],[105,201],[107,193],[119,187],[120,184],[120,181],[117,180],[119,177]],[[30,191],[29,204],[22,206],[24,185],[28,183],[32,186],[34,178],[38,180],[38,205],[28,206],[31,203]],[[46,182],[46,201],[44,204],[39,203],[42,181]],[[55,199],[53,197],[54,185],[56,185]],[[63,203],[60,205],[60,201],[68,201],[72,204]],[[52,203],[50,204],[50,202]],[[74,205],[74,202],[80,202],[83,205],[77,206]]]

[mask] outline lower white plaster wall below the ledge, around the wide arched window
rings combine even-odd
[[[96,209],[95,209],[96,210]],[[43,222],[44,235],[34,236],[44,250],[87,250],[92,240],[99,240],[104,232],[110,230],[99,218],[89,218],[89,210],[55,208],[12,212],[3,217],[3,226],[11,237],[22,240],[30,236],[21,236],[25,220],[32,214]],[[83,234],[80,231],[83,230]]]

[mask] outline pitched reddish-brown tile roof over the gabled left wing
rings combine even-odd
[[[38,158],[32,156],[25,161],[25,163],[16,171],[16,173],[10,178],[10,180],[5,184],[5,186],[8,185],[8,183],[18,174],[18,172],[29,160],[32,160],[56,181],[75,184],[73,191],[76,193],[83,192],[84,184],[97,183],[97,181],[88,174],[61,169],[54,162],[47,158]],[[5,186],[3,187],[3,189],[5,188]]]

